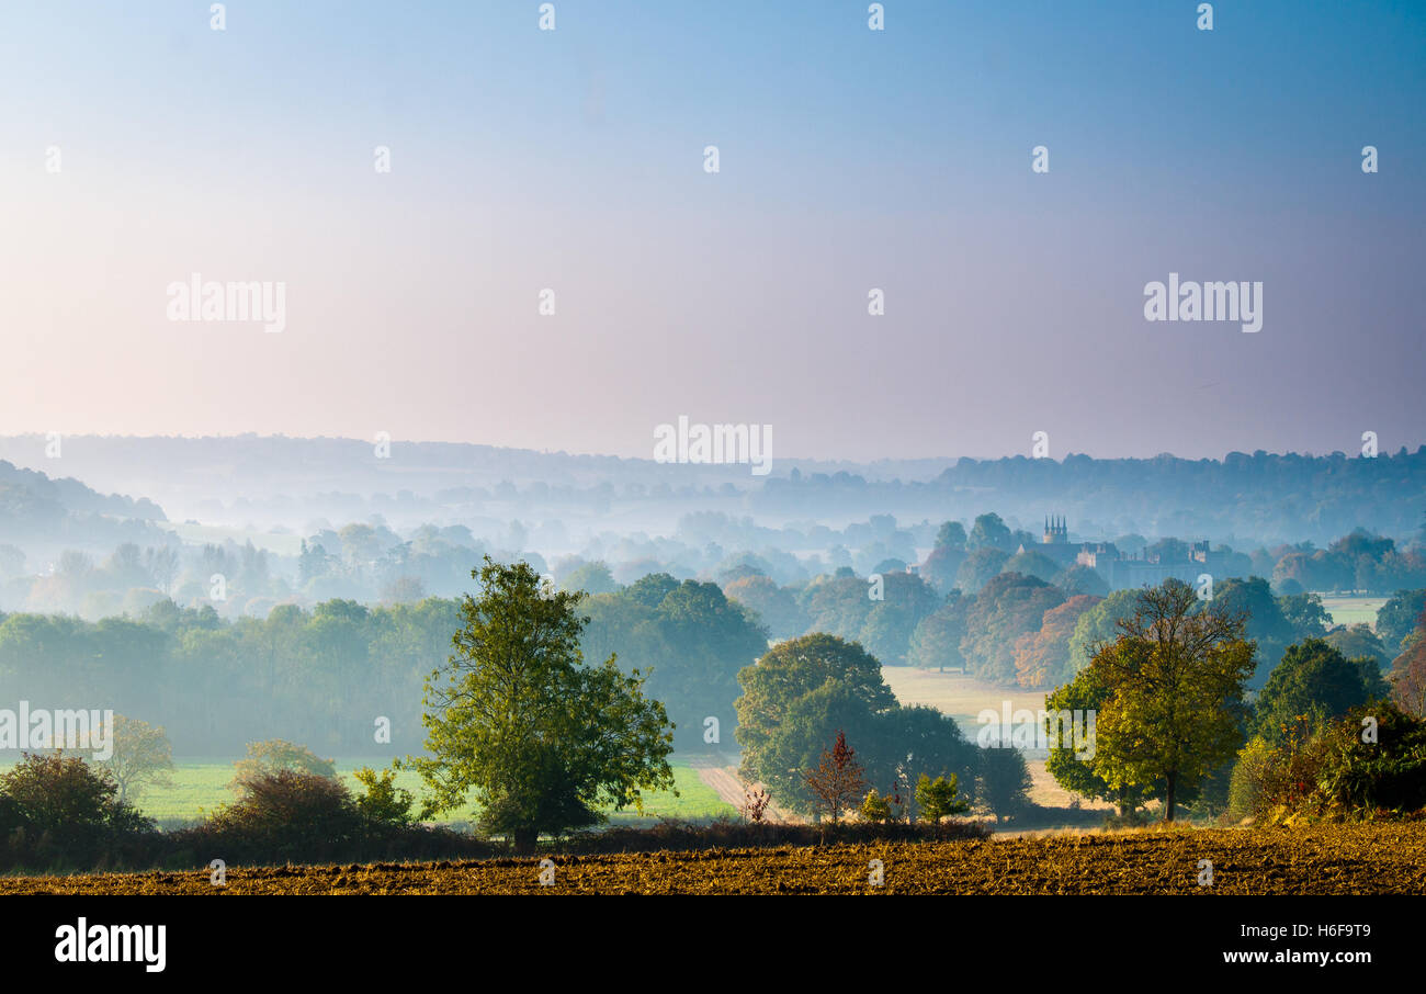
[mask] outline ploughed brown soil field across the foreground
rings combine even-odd
[[[550,859],[548,886],[526,859],[230,867],[224,887],[207,870],[4,877],[0,894],[1426,894],[1420,823]]]

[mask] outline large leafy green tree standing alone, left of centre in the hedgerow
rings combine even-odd
[[[408,760],[431,796],[426,814],[475,791],[481,823],[530,853],[540,833],[642,809],[642,790],[673,786],[672,724],[643,677],[609,656],[585,665],[583,595],[552,592],[528,563],[485,558],[481,595],[461,603],[455,653],[426,680],[426,750]]]

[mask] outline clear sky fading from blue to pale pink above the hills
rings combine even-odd
[[[1426,442],[1426,3],[539,6],[0,7],[0,434]],[[1147,321],[1171,272],[1262,329]]]

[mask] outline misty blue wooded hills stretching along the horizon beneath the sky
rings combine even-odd
[[[0,438],[0,458],[43,468],[44,438]],[[660,465],[566,452],[449,442],[240,435],[225,438],[67,436],[76,479],[9,466],[24,482],[11,513],[41,521],[48,502],[71,513],[161,521],[282,525],[381,513],[394,526],[426,521],[562,521],[595,531],[667,533],[697,511],[759,525],[851,522],[896,515],[903,523],[995,511],[1035,531],[1047,513],[1074,535],[1204,536],[1251,542],[1329,542],[1362,526],[1396,538],[1426,519],[1426,446],[1368,459],[1232,452],[1224,459],[1062,461],[908,459],[874,463],[784,459],[771,473],[746,465]],[[78,483],[77,481],[84,481]],[[144,495],[101,496],[97,491]],[[34,518],[37,516],[37,518]]]

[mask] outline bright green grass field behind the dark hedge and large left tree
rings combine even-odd
[[[13,762],[0,763],[0,770],[9,770],[13,764]],[[699,820],[719,814],[736,814],[730,804],[699,779],[697,770],[677,762],[677,757],[670,764],[679,797],[669,791],[649,794],[645,801],[646,817]],[[352,770],[362,766],[379,767],[381,763],[376,760],[337,760],[337,772],[352,793],[362,790],[361,784],[351,777]],[[232,780],[232,760],[174,760],[173,786],[145,789],[140,794],[137,806],[148,817],[165,824],[195,821],[205,813],[211,814],[220,804],[232,800],[232,791],[228,790],[230,780]],[[421,796],[421,777],[411,770],[398,773],[396,784],[416,797]],[[441,821],[473,821],[475,816],[475,807],[466,806],[459,811],[442,816]],[[616,824],[630,820],[637,820],[637,814],[632,810],[610,816],[610,821]]]

